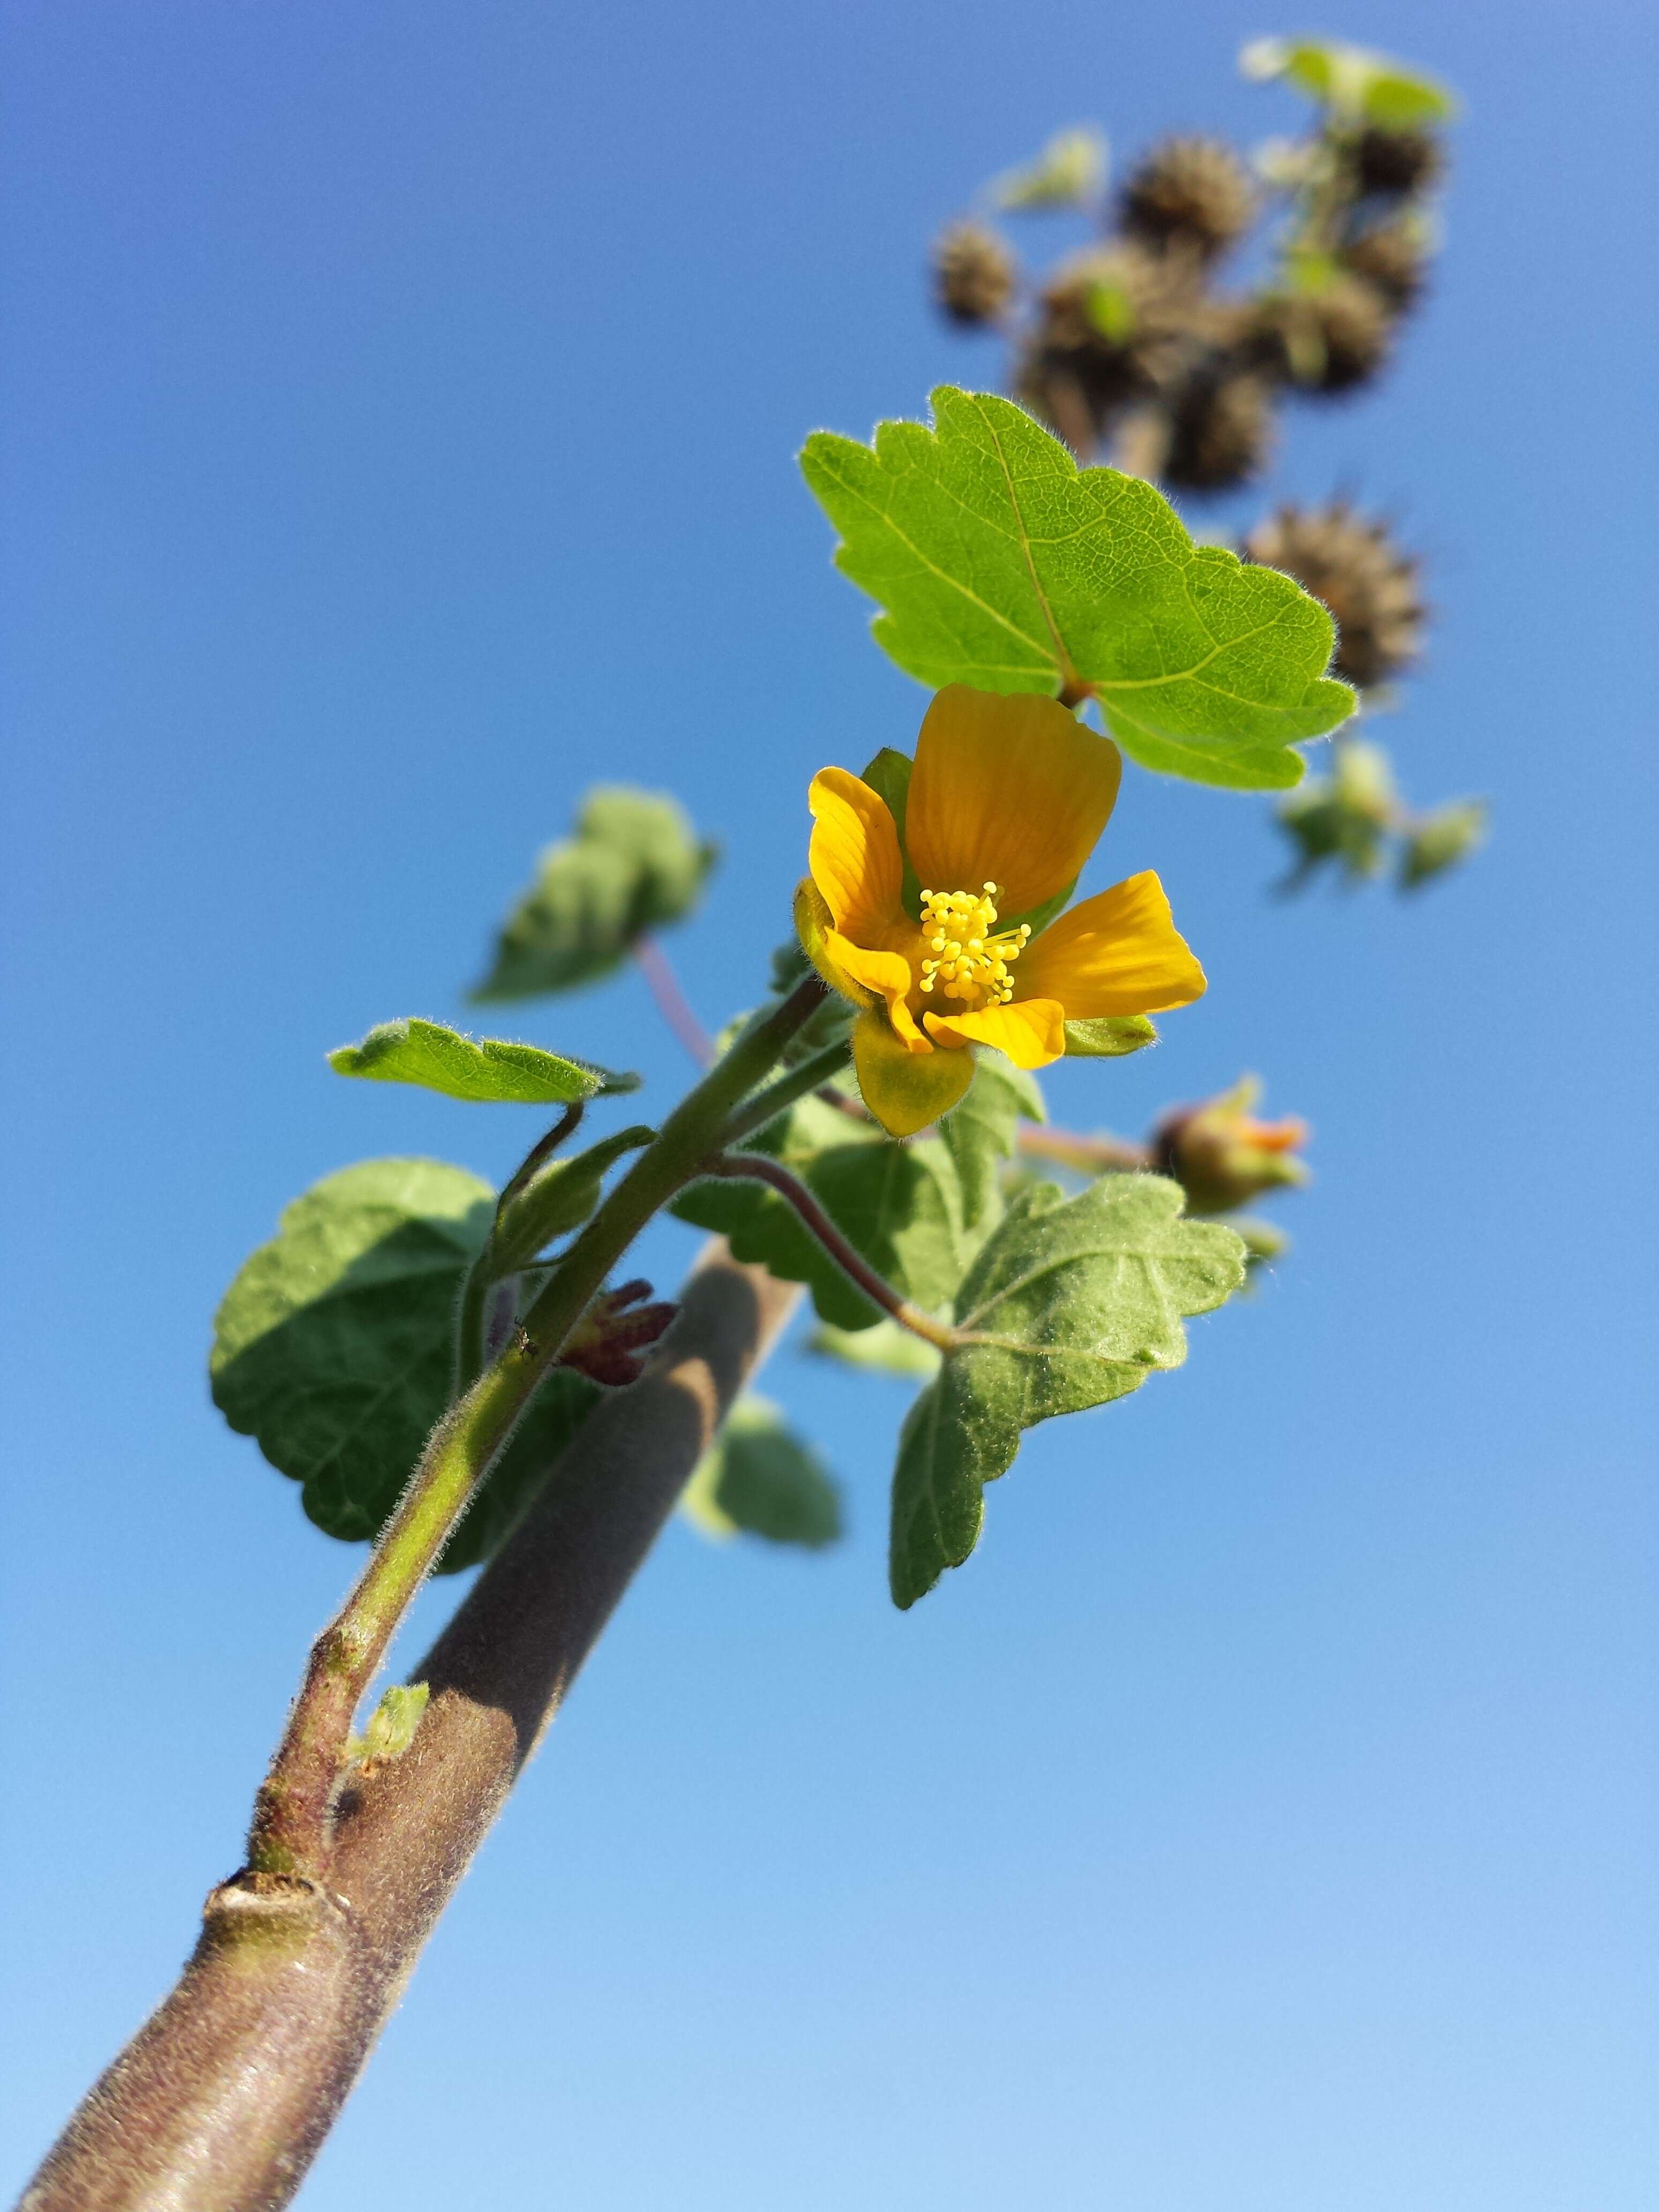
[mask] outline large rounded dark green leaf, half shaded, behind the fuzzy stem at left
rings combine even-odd
[[[456,1301],[495,1192],[436,1159],[367,1159],[283,1212],[215,1316],[212,1398],[327,1535],[367,1540],[449,1402]],[[507,1533],[575,1433],[595,1383],[555,1369],[449,1542],[445,1571]]]

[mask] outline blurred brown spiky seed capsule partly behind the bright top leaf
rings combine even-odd
[[[1405,675],[1422,653],[1427,608],[1418,560],[1387,524],[1332,507],[1281,507],[1245,538],[1245,557],[1283,568],[1323,599],[1336,622],[1332,672],[1369,690]]]

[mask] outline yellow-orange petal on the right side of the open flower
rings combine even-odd
[[[1168,1013],[1203,993],[1203,969],[1150,872],[1084,898],[1020,953],[1015,1002],[1057,998],[1073,1022],[1102,1013]]]

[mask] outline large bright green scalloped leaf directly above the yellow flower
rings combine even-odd
[[[836,566],[885,608],[876,641],[933,688],[1088,686],[1144,768],[1234,790],[1296,783],[1290,748],[1354,712],[1332,617],[1292,577],[1197,546],[1137,476],[1079,469],[1011,400],[933,392],[936,427],[874,447],[818,431],[801,469]]]

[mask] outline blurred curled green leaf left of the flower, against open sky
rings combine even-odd
[[[692,911],[717,858],[666,792],[588,792],[575,836],[546,847],[507,916],[473,998],[535,998],[608,975],[639,938]]]

